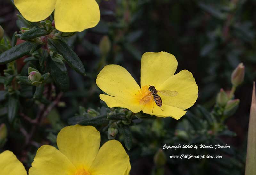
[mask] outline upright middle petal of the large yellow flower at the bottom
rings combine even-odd
[[[57,145],[77,169],[88,170],[100,147],[100,132],[93,126],[67,126],[59,132]]]

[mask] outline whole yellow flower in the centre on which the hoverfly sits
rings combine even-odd
[[[108,107],[127,108],[134,113],[142,110],[147,114],[170,116],[178,120],[185,115],[184,110],[196,102],[198,87],[188,70],[174,75],[177,66],[177,60],[172,54],[145,53],[141,59],[141,88],[125,68],[119,65],[105,66],[98,74],[96,83],[108,95],[100,94],[100,99]],[[153,101],[153,96],[146,104],[140,104],[140,100],[149,93],[151,85],[158,91],[176,91],[178,95],[170,97],[159,93],[163,103],[161,108]]]

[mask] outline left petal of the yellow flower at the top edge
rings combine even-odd
[[[51,15],[56,0],[14,0],[14,4],[26,20],[38,22]]]

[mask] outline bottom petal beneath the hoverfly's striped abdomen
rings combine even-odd
[[[154,104],[154,109],[153,109]],[[162,110],[161,110],[162,108]],[[163,103],[162,107],[159,107],[156,105],[156,103],[152,101],[152,103],[147,103],[145,107],[143,108],[143,112],[150,115],[156,115],[158,117],[172,117],[176,120],[179,120],[180,117],[186,114],[186,111],[183,111],[180,108],[168,106]],[[152,113],[153,109],[153,113]]]

